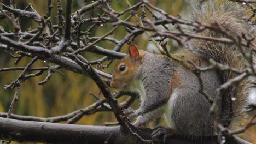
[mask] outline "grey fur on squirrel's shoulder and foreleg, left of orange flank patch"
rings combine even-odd
[[[167,102],[170,95],[169,83],[174,72],[173,63],[167,57],[145,53],[143,58],[135,77],[142,81],[146,92],[146,98],[137,110],[139,115],[155,110]]]

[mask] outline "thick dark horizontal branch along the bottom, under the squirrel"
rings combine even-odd
[[[149,140],[152,129],[141,128],[136,133],[143,139]],[[141,143],[137,137],[123,131],[120,127],[31,122],[9,118],[0,118],[0,139],[49,143]],[[183,140],[178,137],[168,137],[167,142],[181,144],[217,143],[216,139],[202,141]],[[248,142],[238,137],[232,137],[227,139],[226,143]]]

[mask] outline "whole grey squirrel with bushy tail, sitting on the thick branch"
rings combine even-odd
[[[253,27],[248,19],[244,5],[230,1],[205,1],[191,15],[195,21],[208,25],[217,22],[231,35],[248,34]],[[190,30],[193,33],[192,30]],[[219,32],[206,29],[197,34],[216,38],[228,38]],[[253,34],[251,34],[253,36]],[[230,65],[238,70],[245,69],[245,58],[239,56],[236,45],[218,43],[202,39],[191,40],[193,52],[174,54],[173,57],[193,61],[201,67],[209,65],[208,59]],[[243,47],[245,48],[245,47]],[[245,48],[246,49],[246,48]],[[203,71],[201,77],[205,92],[214,99],[216,89],[237,74],[226,71]],[[186,137],[212,136],[214,132],[211,104],[199,92],[199,80],[191,70],[181,63],[164,56],[138,50],[129,46],[129,55],[120,60],[113,71],[110,86],[116,89],[137,89],[140,92],[141,106],[131,114],[138,116],[135,125],[141,127],[164,115],[172,131]],[[251,91],[249,79],[244,79],[235,87],[224,92],[224,99],[230,101],[234,93],[235,101],[219,107],[219,121],[234,129],[246,118],[248,95]],[[227,112],[228,111],[228,112]],[[230,112],[231,111],[231,112]]]

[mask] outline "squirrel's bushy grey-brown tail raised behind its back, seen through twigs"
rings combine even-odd
[[[208,25],[217,22],[234,37],[235,35],[241,35],[242,33],[253,35],[253,27],[246,22],[246,19],[248,20],[246,13],[245,5],[240,5],[240,3],[225,0],[209,0],[202,3],[200,8],[194,10],[192,18],[193,20]],[[225,34],[208,29],[198,34],[223,39],[229,38]],[[236,45],[201,39],[193,39],[192,45],[193,52],[207,60],[211,58],[218,63],[230,65],[239,70],[245,69],[245,58],[241,56],[241,52]],[[245,47],[243,48],[246,50]],[[223,83],[237,76],[237,74],[232,73],[231,71],[225,71],[220,75],[222,76]],[[247,96],[249,93],[248,83],[248,80],[245,79],[241,81],[235,89],[236,100],[232,101],[232,104],[230,104],[230,112],[228,113],[228,115],[230,115],[230,128],[237,125],[241,119],[246,116],[245,107],[247,106]],[[226,94],[223,95],[228,101],[231,101],[231,91],[234,93],[234,87],[230,87],[228,91],[226,91]],[[228,104],[224,104],[224,108],[226,105]],[[226,114],[223,113],[223,115]]]

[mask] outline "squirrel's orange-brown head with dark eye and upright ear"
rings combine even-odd
[[[141,64],[143,52],[136,45],[129,45],[129,55],[125,56],[115,66],[110,86],[115,89],[127,89],[135,78],[137,69]]]

